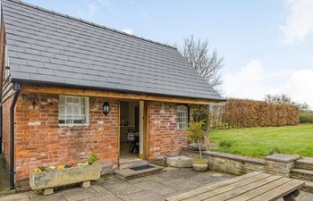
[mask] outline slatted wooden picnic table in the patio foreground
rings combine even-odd
[[[231,180],[199,187],[166,201],[294,201],[300,194],[304,181],[292,180],[282,176],[262,172],[251,172]]]

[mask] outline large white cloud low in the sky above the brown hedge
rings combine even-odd
[[[312,69],[266,71],[260,60],[251,60],[241,71],[224,76],[225,96],[263,99],[266,94],[287,94],[313,109]]]

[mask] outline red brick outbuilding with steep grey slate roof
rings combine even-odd
[[[0,51],[12,188],[91,153],[113,168],[177,155],[195,105],[223,101],[176,48],[20,1],[2,1]]]

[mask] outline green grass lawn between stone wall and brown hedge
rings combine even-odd
[[[212,130],[212,150],[261,157],[272,153],[313,156],[313,124]]]

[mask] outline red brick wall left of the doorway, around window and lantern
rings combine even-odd
[[[20,95],[15,111],[16,181],[29,179],[39,165],[62,165],[85,162],[91,153],[100,163],[117,163],[118,101],[89,98],[89,126],[59,126],[58,96]],[[102,113],[108,102],[111,112]]]

